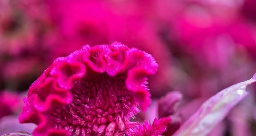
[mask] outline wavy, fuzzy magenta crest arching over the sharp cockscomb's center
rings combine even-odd
[[[111,45],[85,45],[67,57],[57,58],[52,65],[30,86],[28,96],[19,116],[21,123],[35,123],[34,135],[71,135],[66,130],[48,129],[47,118],[43,115],[58,104],[70,104],[73,100],[71,89],[87,71],[106,73],[110,77],[127,74],[125,85],[133,93],[142,111],[151,99],[146,86],[147,75],[155,74],[158,64],[154,58],[136,48],[115,42]],[[88,72],[90,73],[90,72]]]

